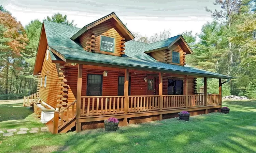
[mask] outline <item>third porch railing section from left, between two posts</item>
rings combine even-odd
[[[163,95],[163,108],[174,109],[186,107],[186,95]]]

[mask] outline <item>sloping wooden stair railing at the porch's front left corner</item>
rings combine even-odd
[[[74,102],[72,102],[71,104],[69,104],[67,107],[65,107],[64,109],[62,109],[60,112],[59,111],[55,111],[54,112],[54,119],[53,119],[53,134],[57,134],[58,131],[63,128],[63,126],[65,126],[66,124],[68,124],[70,121],[72,121],[75,117],[76,117],[76,112],[75,112],[75,104],[76,104],[77,100],[75,100]],[[72,107],[72,112],[71,115],[69,114],[69,110],[70,107]],[[66,119],[64,119],[64,112],[67,110],[67,114],[66,114]],[[71,116],[71,118],[69,118],[69,116]],[[59,119],[60,118],[60,119]],[[59,125],[59,121],[60,121],[60,125]],[[65,122],[64,122],[65,121]]]

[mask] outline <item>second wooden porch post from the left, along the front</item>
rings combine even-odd
[[[125,88],[124,88],[124,96],[125,96],[124,109],[125,109],[125,114],[128,113],[128,108],[129,108],[128,90],[129,90],[129,69],[125,69]],[[127,118],[124,118],[123,124],[124,124],[124,126],[126,126],[128,124]]]

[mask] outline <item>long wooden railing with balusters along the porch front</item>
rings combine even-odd
[[[127,113],[157,111],[161,109],[175,109],[221,104],[220,95],[146,95],[128,96]],[[162,105],[160,104],[162,98]],[[125,113],[125,96],[82,96],[81,115],[107,115]],[[162,108],[161,108],[162,107]]]

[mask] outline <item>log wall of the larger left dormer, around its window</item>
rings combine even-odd
[[[114,53],[100,50],[101,35],[115,38]],[[125,53],[125,38],[122,33],[114,26],[110,19],[88,30],[86,33],[79,37],[79,41],[84,50],[89,52],[114,56],[121,56]]]

